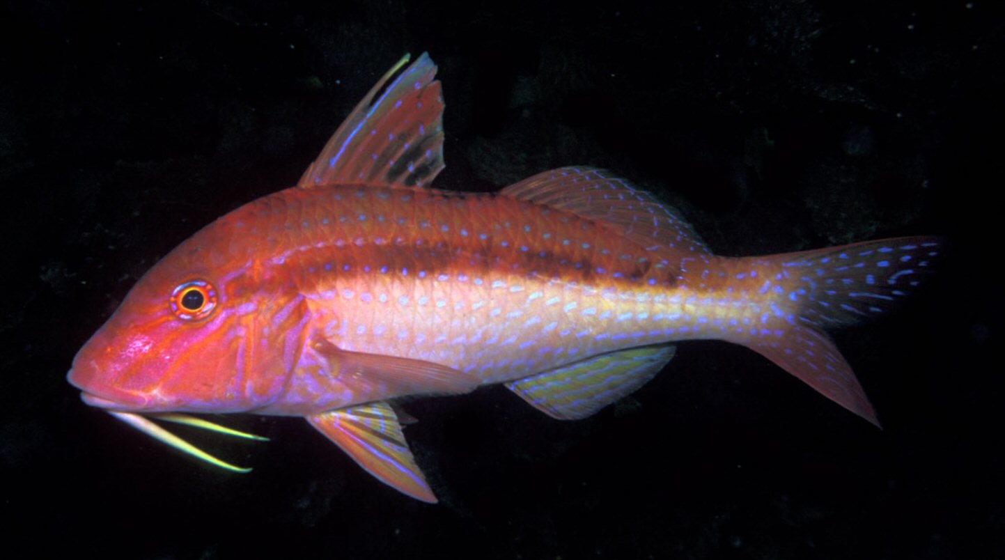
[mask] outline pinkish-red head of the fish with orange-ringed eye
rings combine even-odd
[[[215,225],[151,268],[76,354],[67,380],[84,402],[139,413],[240,412],[281,392],[303,306],[265,294],[260,267],[235,254],[232,237],[220,239],[225,223]],[[269,329],[260,321],[280,312],[290,323],[261,336]]]

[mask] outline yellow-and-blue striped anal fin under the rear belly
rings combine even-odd
[[[578,420],[644,385],[673,358],[675,350],[672,345],[629,348],[512,381],[506,386],[554,418]]]

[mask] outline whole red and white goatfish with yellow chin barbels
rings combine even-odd
[[[437,190],[441,85],[427,53],[410,59],[295,186],[218,218],[141,277],[73,358],[84,403],[242,473],[159,422],[264,439],[192,414],[299,416],[428,503],[403,399],[504,384],[554,418],[585,418],[682,341],[743,345],[879,425],[826,331],[898,306],[942,238],[722,256],[679,211],[593,167],[495,193]]]

